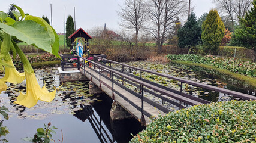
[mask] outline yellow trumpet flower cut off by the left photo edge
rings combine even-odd
[[[21,83],[25,79],[25,74],[19,73],[19,71],[16,70],[12,60],[8,60],[5,62],[13,67],[5,67],[4,77],[2,77],[2,79],[0,79],[0,91],[1,92],[5,91],[7,89],[7,85],[5,84],[5,82],[18,84],[18,83]]]

